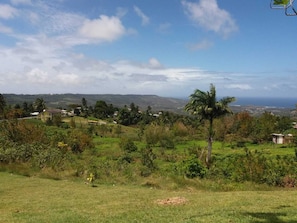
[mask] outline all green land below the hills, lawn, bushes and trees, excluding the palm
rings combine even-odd
[[[1,222],[297,221],[294,117],[213,116],[209,163],[207,117],[82,100],[20,119],[2,104]]]

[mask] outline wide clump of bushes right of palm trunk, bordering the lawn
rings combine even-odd
[[[294,156],[264,156],[261,152],[246,149],[244,155],[213,157],[207,176],[211,179],[228,179],[235,182],[254,182],[270,186],[290,187],[297,182]]]

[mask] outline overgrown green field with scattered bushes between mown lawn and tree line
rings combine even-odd
[[[195,178],[213,182],[218,191],[236,189],[244,182],[296,187],[295,144],[216,141],[207,168],[207,144],[201,133],[181,123],[170,128],[156,123],[102,124],[82,117],[64,119],[59,126],[39,120],[3,121],[0,170],[60,180],[93,175],[93,183],[163,189],[185,188],[187,179]]]

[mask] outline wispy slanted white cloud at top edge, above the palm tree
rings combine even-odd
[[[224,37],[237,30],[235,20],[224,9],[220,9],[216,0],[200,0],[198,3],[182,0],[189,18],[197,25],[214,31]]]

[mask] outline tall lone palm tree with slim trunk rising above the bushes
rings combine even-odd
[[[235,101],[234,97],[224,97],[217,101],[216,89],[213,84],[210,84],[210,91],[204,92],[196,89],[190,95],[190,101],[186,104],[185,110],[193,115],[197,115],[200,120],[208,120],[208,152],[206,164],[209,166],[211,162],[212,141],[214,136],[213,121],[226,114],[232,113],[229,104]]]

